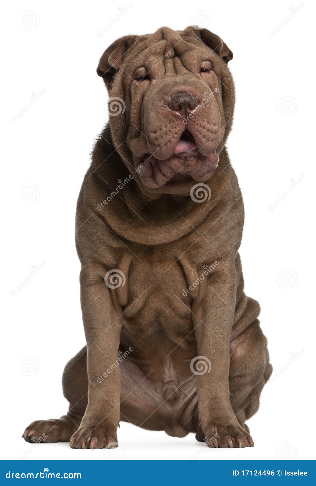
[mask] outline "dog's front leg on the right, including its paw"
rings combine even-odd
[[[235,265],[221,261],[203,283],[203,300],[193,311],[199,354],[195,370],[199,420],[204,440],[209,447],[250,446],[252,438],[238,423],[229,399],[229,344],[237,283]]]

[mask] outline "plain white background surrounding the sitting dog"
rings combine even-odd
[[[126,6],[127,0],[29,0],[8,2],[2,10],[0,457],[311,459],[315,451],[312,1],[132,0]],[[206,449],[193,434],[172,438],[126,423],[119,429],[119,450],[28,444],[21,435],[30,422],[66,412],[63,367],[85,343],[74,217],[89,153],[107,121],[106,88],[95,72],[99,57],[121,35],[147,34],[162,25],[184,29],[197,21],[220,35],[234,52],[229,67],[237,103],[228,150],[246,211],[240,253],[246,292],[261,304],[260,320],[274,368],[259,412],[249,421],[255,448]],[[36,103],[31,101],[34,94]],[[16,290],[34,267],[37,274]]]

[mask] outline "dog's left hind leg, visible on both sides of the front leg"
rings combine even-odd
[[[151,430],[165,430],[166,420],[163,414],[164,407],[161,406],[162,397],[142,371],[128,356],[124,356],[126,356],[124,349],[120,348],[121,420]],[[111,373],[111,370],[108,370],[108,373]],[[104,380],[108,380],[107,373],[102,375],[102,381]],[[98,387],[98,383],[95,383],[95,387]],[[65,366],[63,394],[69,401],[67,415],[32,422],[23,434],[27,442],[69,442],[71,436],[78,430],[88,403],[86,347]],[[100,399],[102,399],[101,395]]]

